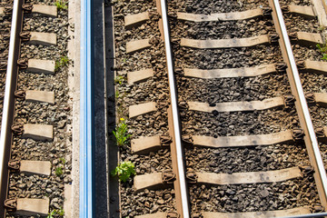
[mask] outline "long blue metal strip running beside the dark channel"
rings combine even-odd
[[[81,2],[80,218],[94,217],[93,1]]]

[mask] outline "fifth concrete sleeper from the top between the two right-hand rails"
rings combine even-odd
[[[192,135],[192,139],[194,145],[214,148],[272,145],[293,141],[291,130],[275,134],[221,136],[217,138],[205,135]]]

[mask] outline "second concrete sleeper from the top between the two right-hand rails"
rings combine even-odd
[[[252,47],[255,45],[269,44],[269,35],[259,35],[249,38],[233,38],[233,39],[181,39],[181,45],[192,48],[233,48],[233,47]]]

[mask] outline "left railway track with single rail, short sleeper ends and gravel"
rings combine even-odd
[[[11,21],[2,21],[11,30],[3,35],[10,44],[2,44],[0,217],[60,217],[72,182],[67,11],[64,3],[59,10],[51,2],[7,2],[12,5],[0,5],[0,15]]]

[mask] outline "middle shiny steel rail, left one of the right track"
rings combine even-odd
[[[175,81],[173,75],[173,55],[171,51],[170,45],[170,34],[169,34],[169,26],[168,26],[168,18],[167,18],[167,5],[165,0],[161,0],[161,10],[162,10],[162,18],[163,18],[163,35],[164,35],[164,46],[166,52],[166,60],[167,60],[167,70],[168,70],[168,81],[169,81],[169,89],[171,95],[171,107],[172,107],[172,115],[173,115],[173,134],[174,134],[174,143],[175,143],[175,154],[172,151],[172,158],[175,158],[177,162],[177,183],[178,189],[180,191],[180,196],[177,196],[176,187],[176,203],[180,201],[182,208],[181,217],[189,218],[190,210],[189,210],[189,198],[187,194],[186,181],[185,181],[185,171],[184,171],[184,163],[183,163],[183,146],[182,146],[182,137],[181,137],[181,127],[179,122],[178,108],[177,108],[177,98],[176,98],[176,90],[175,90]],[[178,208],[177,208],[178,209]]]

